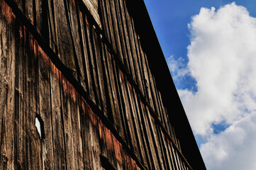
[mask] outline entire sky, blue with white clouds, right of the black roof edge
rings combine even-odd
[[[256,169],[256,1],[145,4],[207,169]]]

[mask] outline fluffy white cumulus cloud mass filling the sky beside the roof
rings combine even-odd
[[[170,58],[169,67],[174,79],[196,80],[196,92],[178,92],[194,134],[204,139],[206,166],[256,169],[256,18],[235,3],[201,8],[189,30],[189,62],[177,67]],[[228,128],[216,133],[221,123]]]

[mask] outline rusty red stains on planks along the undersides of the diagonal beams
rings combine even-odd
[[[24,35],[26,34],[26,28],[24,27],[23,29]],[[21,33],[22,35],[22,33]],[[29,33],[29,45],[31,50],[35,53],[35,56],[38,57],[43,57],[43,61],[49,62],[50,58],[48,55],[45,54],[43,49],[38,45],[38,42],[35,41],[33,38],[33,35],[30,35]],[[26,36],[24,36],[24,40],[26,41]],[[74,89],[74,86],[67,81],[65,76],[60,72],[57,67],[55,67],[52,62],[50,62],[52,65],[52,72],[54,73],[55,79],[59,79],[59,74],[60,77],[62,77],[61,85],[62,89],[65,92],[65,94],[69,94],[74,102],[77,102],[77,98],[81,98],[81,108],[82,108],[82,114],[88,114],[89,119],[91,120],[91,123],[96,127],[96,130],[99,131],[99,137],[101,140],[104,140],[106,142],[106,146],[108,149],[108,152],[113,152],[116,155],[116,159],[118,164],[126,164],[128,166],[128,169],[140,169],[136,162],[126,153],[126,151],[123,149],[121,143],[116,139],[116,137],[113,136],[110,130],[104,126],[104,124],[101,122],[99,117],[91,110],[89,104],[87,101],[82,98],[82,96],[79,96],[77,93],[76,89]],[[121,77],[123,77],[123,72],[121,72]],[[128,84],[130,89],[133,89],[133,87]],[[134,89],[133,89],[134,90]],[[137,94],[136,94],[137,95]],[[145,108],[145,106],[142,103],[142,106]]]

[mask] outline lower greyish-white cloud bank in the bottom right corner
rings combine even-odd
[[[208,169],[256,169],[256,114],[233,123],[201,145]]]

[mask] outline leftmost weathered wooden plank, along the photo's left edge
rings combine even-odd
[[[0,169],[13,169],[16,30],[10,8],[4,1],[0,6]]]

